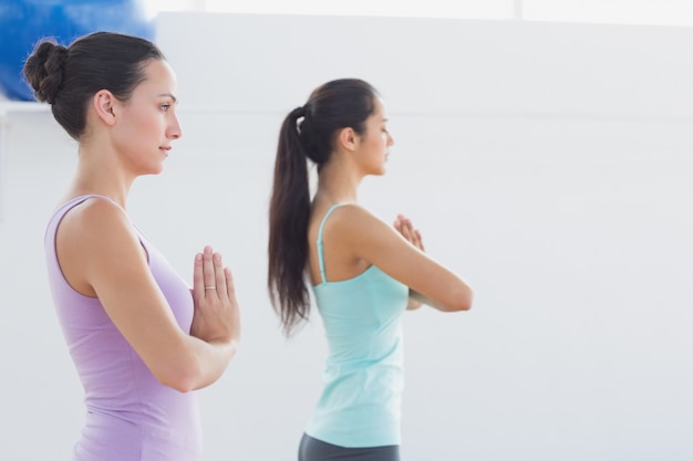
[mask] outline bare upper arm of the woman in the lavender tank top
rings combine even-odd
[[[137,233],[123,210],[91,200],[59,229],[59,259],[70,282],[87,286],[114,325],[162,383],[184,379],[187,335],[156,284]]]

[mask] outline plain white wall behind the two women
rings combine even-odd
[[[381,90],[396,142],[363,203],[476,291],[406,315],[403,459],[693,457],[692,29],[169,13],[157,40],[185,134],[131,214],[188,279],[220,250],[244,312],[200,392],[206,461],[296,459],[320,390],[319,318],[285,340],[267,300],[267,200],[282,116],[341,76]],[[74,145],[45,111],[3,127],[0,442],[66,460],[81,389],[42,235]]]

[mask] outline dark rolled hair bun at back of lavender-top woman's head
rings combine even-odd
[[[68,49],[52,41],[41,42],[24,64],[24,75],[38,101],[53,104],[63,83]]]

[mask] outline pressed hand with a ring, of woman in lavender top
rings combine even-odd
[[[209,245],[195,255],[193,301],[192,336],[208,343],[240,338],[240,312],[231,270],[223,266],[221,254]]]

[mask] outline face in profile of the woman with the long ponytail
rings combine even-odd
[[[387,132],[387,115],[382,99],[375,98],[375,109],[365,121],[365,132],[359,136],[356,155],[366,175],[383,175],[394,139]]]

